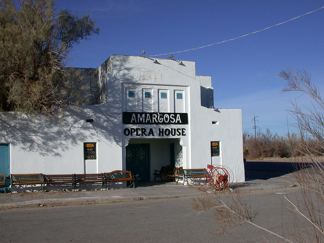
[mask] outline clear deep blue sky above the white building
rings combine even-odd
[[[98,67],[110,55],[148,56],[214,44],[290,20],[319,9],[324,1],[214,0],[131,1],[58,0],[58,9],[89,13],[100,34],[71,52],[69,66]],[[324,85],[324,9],[234,41],[174,54],[177,60],[196,62],[196,74],[212,77],[216,108],[242,110],[243,131],[257,126],[278,135],[292,132],[287,113],[298,93],[282,94],[280,70],[291,67],[311,73],[312,82]],[[168,58],[168,55],[156,56]],[[322,89],[321,89],[322,88]],[[306,96],[297,99],[309,104]]]

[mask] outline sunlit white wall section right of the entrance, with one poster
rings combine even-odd
[[[236,181],[244,181],[241,110],[204,109],[204,115],[191,119],[192,168],[223,165],[233,171]],[[211,157],[212,141],[220,142],[220,156]]]

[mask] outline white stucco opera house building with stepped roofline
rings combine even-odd
[[[113,55],[95,71],[95,104],[62,119],[0,114],[0,174],[131,170],[154,180],[161,166],[213,164],[244,181],[241,110],[214,108],[211,77],[194,62]]]

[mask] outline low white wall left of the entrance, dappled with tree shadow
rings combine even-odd
[[[11,173],[70,174],[122,169],[121,116],[107,118],[98,106],[68,110],[62,119],[0,113],[0,142],[9,143]],[[93,118],[93,123],[86,119]],[[116,121],[118,120],[118,125]],[[114,129],[112,129],[114,128]],[[97,160],[87,161],[84,143],[97,143]],[[95,164],[95,165],[93,165]]]

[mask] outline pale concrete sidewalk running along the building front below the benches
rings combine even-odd
[[[296,173],[296,172],[295,172]],[[295,184],[293,173],[268,180],[233,183],[231,189],[242,191],[290,187]],[[168,182],[136,188],[96,191],[50,191],[1,193],[0,210],[22,207],[64,206],[115,203],[120,201],[204,195],[197,187]]]

